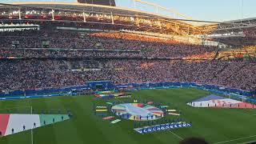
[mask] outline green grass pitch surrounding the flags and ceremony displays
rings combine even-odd
[[[170,103],[182,110],[182,117],[192,127],[154,134],[138,134],[133,122],[123,120],[110,124],[94,115],[93,96],[31,98],[0,101],[0,109],[33,106],[34,110],[71,110],[74,118],[34,130],[34,144],[175,144],[191,136],[205,138],[210,143],[242,143],[256,140],[256,111],[186,106],[207,91],[196,89],[140,90],[131,93],[139,99]],[[6,112],[0,110],[0,113]],[[0,138],[1,144],[30,144],[30,130]]]

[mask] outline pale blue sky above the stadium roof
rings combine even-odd
[[[224,22],[241,18],[256,18],[256,0],[142,0],[190,16],[196,20]],[[0,0],[0,2],[75,2],[75,0]],[[116,0],[117,6],[134,8],[133,0]],[[136,9],[156,12],[154,6],[136,2]],[[165,10],[159,14],[174,17]]]

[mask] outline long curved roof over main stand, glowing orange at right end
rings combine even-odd
[[[157,8],[167,10],[163,7]],[[187,18],[174,11],[171,13],[176,18]],[[192,43],[202,43],[201,35],[210,34],[216,27],[215,25],[196,26],[159,13],[87,2],[14,2],[1,4],[0,14],[2,23],[46,22],[55,25],[58,23],[60,26],[63,24],[70,26],[70,23],[73,23],[73,27],[142,31]]]

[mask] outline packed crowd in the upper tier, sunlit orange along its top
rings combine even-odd
[[[14,45],[13,42],[18,42]],[[49,45],[43,45],[43,43],[49,42]],[[62,49],[67,55],[70,54],[70,50],[66,49],[84,50],[82,55],[84,57],[95,56],[94,51],[97,50],[140,50],[140,54],[132,53],[130,51],[119,53],[120,57],[148,57],[148,58],[182,58],[196,54],[213,55],[217,50],[212,46],[198,46],[189,45],[184,43],[175,42],[174,40],[164,38],[154,38],[139,36],[136,34],[122,34],[122,33],[74,33],[67,31],[14,31],[3,32],[0,34],[0,49],[2,52],[0,57],[6,56],[24,56],[20,50],[10,50],[13,47],[17,48],[48,48],[46,53],[52,53],[49,49]],[[89,49],[89,50],[88,50]],[[35,57],[43,57],[42,50],[26,50],[26,54],[36,55]],[[98,52],[100,53],[100,52]],[[101,55],[96,54],[96,56]],[[103,54],[103,56],[113,55]],[[119,55],[114,53],[114,55]],[[74,54],[74,50],[73,50]],[[81,51],[76,55],[81,54]],[[76,56],[75,55],[75,56]]]

